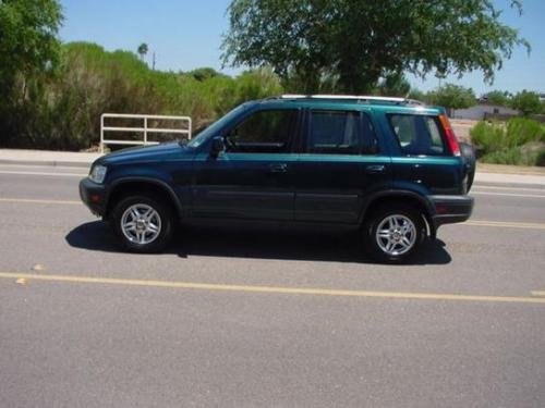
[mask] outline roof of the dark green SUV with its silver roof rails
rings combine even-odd
[[[320,108],[347,110],[384,110],[388,112],[444,113],[444,108],[429,107],[424,102],[395,97],[354,96],[354,95],[282,95],[255,101],[271,108]]]

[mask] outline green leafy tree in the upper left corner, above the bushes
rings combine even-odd
[[[1,99],[7,98],[17,76],[24,79],[56,66],[61,22],[57,0],[0,1]]]

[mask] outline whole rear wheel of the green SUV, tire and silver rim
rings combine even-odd
[[[377,233],[378,230],[383,233]],[[364,234],[365,249],[375,260],[402,263],[417,251],[426,236],[426,225],[421,212],[413,207],[390,206],[371,214]]]

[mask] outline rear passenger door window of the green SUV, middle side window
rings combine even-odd
[[[306,151],[322,154],[376,152],[373,125],[359,111],[313,111]]]

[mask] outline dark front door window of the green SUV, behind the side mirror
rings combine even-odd
[[[226,136],[231,152],[287,152],[296,119],[295,110],[257,111]]]

